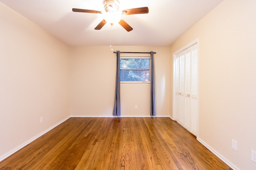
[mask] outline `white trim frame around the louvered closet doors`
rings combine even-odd
[[[199,39],[195,39],[194,41],[192,41],[191,43],[185,45],[184,47],[182,47],[181,49],[179,49],[178,51],[174,52],[173,53],[173,92],[172,92],[172,119],[173,120],[176,120],[176,55],[182,51],[184,51],[185,49],[191,47],[192,45],[196,44],[197,43],[197,50],[198,50],[198,58],[197,58],[197,128],[196,128],[196,134],[194,135],[198,135],[198,117],[199,117],[199,90],[198,90],[198,87],[199,87]],[[185,127],[185,126],[184,126]]]

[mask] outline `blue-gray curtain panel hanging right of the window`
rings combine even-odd
[[[154,53],[150,52],[151,57],[151,68],[150,68],[150,115],[156,115],[156,104],[155,104],[155,71],[154,71]]]

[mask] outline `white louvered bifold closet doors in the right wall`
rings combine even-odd
[[[178,53],[175,59],[175,118],[180,125],[197,133],[197,44]]]

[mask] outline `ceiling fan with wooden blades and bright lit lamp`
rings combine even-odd
[[[121,15],[132,15],[132,14],[147,14],[148,7],[141,7],[141,8],[132,8],[127,10],[119,11],[119,0],[105,0],[104,1],[104,9],[106,12],[105,18],[94,28],[94,29],[101,29],[107,22],[110,22],[110,25],[114,24],[114,21],[111,19],[116,20],[126,31],[132,31],[132,27],[126,23],[126,21],[121,19]],[[96,10],[84,10],[84,9],[77,9],[72,8],[73,12],[85,12],[85,13],[93,13],[93,14],[103,14],[102,11]]]

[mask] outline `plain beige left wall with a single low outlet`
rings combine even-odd
[[[70,49],[1,2],[0,16],[1,159],[70,116]]]

